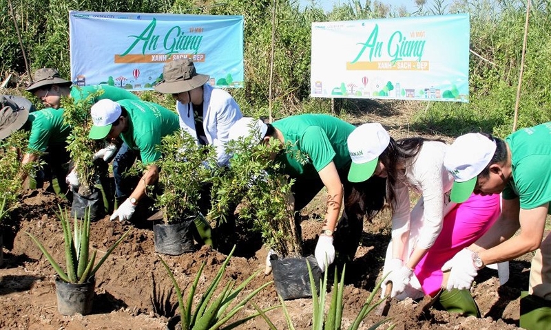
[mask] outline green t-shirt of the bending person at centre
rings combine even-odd
[[[355,129],[353,124],[332,115],[291,115],[272,124],[291,142],[280,161],[291,177],[316,177],[331,161],[337,170],[352,162],[346,139]],[[297,152],[298,151],[298,152]]]

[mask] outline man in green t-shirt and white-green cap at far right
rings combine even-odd
[[[479,142],[486,138],[494,143]],[[551,201],[551,122],[521,129],[505,140],[480,133],[461,135],[446,153],[444,166],[455,177],[452,201],[461,203],[473,191],[481,195],[501,192],[503,198],[495,225],[450,261],[448,287],[452,283],[459,289],[468,288],[481,267],[537,250],[530,267],[529,295],[521,300],[520,326],[548,329],[551,236],[544,238],[543,232]]]

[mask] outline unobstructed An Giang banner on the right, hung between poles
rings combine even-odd
[[[468,102],[469,17],[312,23],[311,96]]]

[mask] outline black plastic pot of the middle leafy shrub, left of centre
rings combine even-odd
[[[194,252],[194,218],[186,221],[153,226],[155,251],[171,256]]]

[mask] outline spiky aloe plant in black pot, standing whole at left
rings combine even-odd
[[[73,315],[76,313],[82,315],[90,314],[96,286],[95,274],[132,228],[127,230],[96,263],[97,250],[94,250],[90,254],[89,209],[85,211],[85,217],[82,220],[74,218],[73,226],[71,226],[67,210],[63,210],[61,206],[59,207],[58,217],[63,228],[66,271],[56,263],[52,255],[44,248],[36,236],[29,232],[25,232],[25,234],[28,234],[32,241],[37,244],[38,248],[57,272],[55,284],[59,313],[62,315]]]

